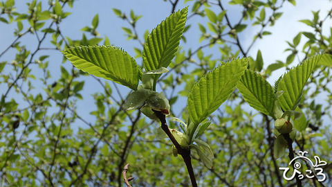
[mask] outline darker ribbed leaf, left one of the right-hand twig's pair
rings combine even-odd
[[[274,118],[275,93],[261,75],[247,69],[237,83],[237,89],[252,108]]]

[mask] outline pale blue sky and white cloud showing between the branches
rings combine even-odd
[[[228,1],[227,1],[228,2]],[[47,6],[47,1],[43,1],[44,5]],[[18,11],[26,11],[26,1],[16,1],[17,10]],[[228,10],[228,15],[231,21],[237,21],[241,16],[241,12],[239,12],[239,7],[237,6],[228,6],[225,1],[226,8],[230,8]],[[176,10],[184,8],[185,6],[192,6],[192,2],[184,4],[183,1],[179,1]],[[257,51],[260,49],[264,58],[264,67],[266,68],[268,64],[275,62],[275,60],[285,60],[288,53],[284,53],[284,49],[287,47],[286,40],[291,41],[293,37],[300,30],[308,30],[311,31],[308,26],[305,24],[299,23],[299,19],[311,19],[313,15],[311,14],[311,10],[320,10],[320,15],[326,15],[326,11],[331,8],[331,1],[327,0],[300,0],[297,1],[297,6],[291,5],[291,3],[284,3],[284,8],[281,11],[284,12],[284,15],[276,22],[273,28],[268,28],[268,31],[273,33],[273,35],[264,37],[264,39],[259,40],[255,43],[250,51],[249,55],[252,55],[254,58],[257,54]],[[98,32],[100,33],[100,37],[104,37],[107,35],[109,37],[111,44],[114,46],[121,46],[131,55],[135,55],[133,52],[133,47],[139,47],[140,44],[138,42],[127,41],[127,37],[124,36],[124,32],[121,29],[122,26],[130,27],[122,19],[116,17],[113,13],[112,8],[117,8],[125,12],[129,15],[130,10],[132,9],[136,15],[143,15],[143,17],[137,22],[138,35],[142,38],[145,30],[151,31],[152,28],[156,27],[157,24],[160,23],[165,17],[169,16],[172,7],[169,2],[165,2],[162,0],[125,0],[125,1],[109,1],[109,0],[98,0],[98,1],[75,1],[74,8],[70,9],[66,7],[64,11],[72,12],[68,18],[64,19],[60,24],[60,27],[63,29],[62,33],[64,35],[71,37],[72,39],[81,39],[82,32],[81,28],[84,26],[90,26],[91,20],[93,16],[98,13],[99,15],[99,26]],[[187,35],[187,43],[184,44],[181,42],[181,46],[187,48],[188,46],[192,48],[196,48],[195,46],[199,46],[199,37],[201,32],[199,31],[196,22],[203,21],[204,19],[201,17],[193,17],[188,21],[188,23],[195,23],[192,25]],[[326,26],[331,26],[332,23],[327,24]],[[28,24],[24,24],[25,28],[28,27]],[[10,26],[3,24],[0,22],[1,35],[0,35],[0,51],[3,51],[15,37],[12,35],[12,31],[16,28],[16,24],[12,24]],[[6,28],[6,29],[4,29]],[[257,33],[259,28],[252,28],[248,26],[246,30],[239,35],[239,39],[243,42],[243,46],[246,48],[252,41],[253,35]],[[323,29],[323,33],[329,33],[328,28]],[[86,35],[89,35],[87,33]],[[32,46],[35,44],[35,38],[33,35],[28,35],[28,37],[22,38],[22,42],[27,44],[27,46]],[[46,44],[46,46],[50,46],[50,44]],[[35,48],[35,47],[33,47]],[[210,53],[219,53],[219,51],[212,51]],[[42,51],[39,55],[42,54],[56,54],[58,51]],[[1,57],[0,62],[8,60],[9,62],[13,59],[13,55],[15,54],[15,50],[10,51],[7,55]],[[138,60],[139,62],[140,60]],[[52,60],[50,60],[50,67],[53,70],[52,74],[55,80],[57,79],[57,75],[59,75],[59,64],[62,62],[62,55],[53,55]],[[140,62],[139,62],[140,63]],[[297,63],[297,62],[296,62]],[[69,67],[71,64],[66,62],[64,66]],[[6,70],[6,69],[5,69]],[[7,69],[9,71],[9,69]],[[284,69],[280,71],[276,71],[273,74],[273,77],[270,78],[270,82],[273,83],[274,80],[284,73]],[[39,72],[35,72],[38,74]],[[86,96],[90,96],[95,89],[99,87],[95,86],[95,81],[89,78],[84,78],[86,80],[85,88],[89,87],[89,89],[84,89]],[[129,89],[122,88],[122,91],[129,91]],[[3,90],[3,87],[0,89]],[[2,94],[2,91],[0,91]],[[115,94],[116,95],[116,94]],[[93,103],[94,100],[91,97],[84,97],[83,104],[79,103],[78,112],[82,112],[83,114],[89,115],[89,110],[84,109],[86,103]],[[93,120],[91,120],[93,122]]]

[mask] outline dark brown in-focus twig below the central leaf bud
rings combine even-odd
[[[153,110],[154,114],[159,118],[160,123],[161,123],[161,129],[167,134],[169,139],[172,141],[174,144],[176,150],[178,150],[178,154],[180,154],[183,158],[183,161],[185,162],[185,166],[187,166],[187,170],[189,172],[190,180],[192,181],[192,186],[196,187],[196,178],[194,174],[194,169],[192,168],[192,158],[190,157],[190,150],[184,149],[181,147],[180,144],[178,144],[178,141],[174,138],[173,134],[171,131],[169,131],[169,128],[166,123],[166,118],[165,115],[162,112]]]

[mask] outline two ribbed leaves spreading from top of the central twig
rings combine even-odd
[[[147,38],[143,49],[146,71],[167,67],[178,50],[183,35],[187,8],[175,12],[157,26]],[[133,90],[138,87],[142,71],[127,52],[113,46],[75,46],[62,53],[77,69],[100,78],[112,80]]]

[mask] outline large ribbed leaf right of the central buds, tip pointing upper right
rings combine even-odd
[[[195,125],[228,99],[247,66],[247,58],[232,60],[213,69],[194,84],[188,96],[187,111]]]

